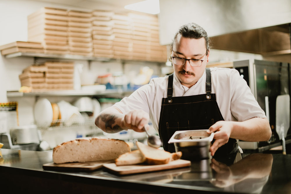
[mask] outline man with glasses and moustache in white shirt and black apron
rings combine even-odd
[[[168,144],[175,131],[208,129],[207,133],[214,132],[212,156],[239,152],[237,139],[269,140],[266,115],[237,70],[206,68],[210,46],[202,27],[181,26],[171,52],[174,73],[153,78],[102,111],[95,120],[97,127],[107,133],[143,132],[143,127],[149,129],[150,119],[168,152],[175,152],[174,145]]]

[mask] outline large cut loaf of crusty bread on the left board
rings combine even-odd
[[[53,150],[54,163],[89,162],[116,159],[130,152],[122,140],[108,138],[78,138],[58,145]]]

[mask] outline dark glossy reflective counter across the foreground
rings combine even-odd
[[[291,155],[243,154],[126,176],[46,171],[52,152],[1,149],[0,183],[29,193],[291,193]],[[242,158],[240,157],[242,156]]]

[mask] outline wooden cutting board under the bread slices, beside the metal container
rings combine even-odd
[[[136,164],[136,165],[125,165],[125,166],[116,166],[115,163],[107,163],[103,166],[110,170],[111,172],[118,175],[128,175],[141,172],[151,172],[157,170],[167,170],[173,168],[181,168],[185,166],[190,166],[191,162],[188,160],[174,160],[167,164],[160,165],[148,165],[148,164]]]

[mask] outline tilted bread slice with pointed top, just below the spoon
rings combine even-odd
[[[150,147],[141,142],[136,142],[136,146],[141,151],[141,154],[145,157],[148,164],[167,164],[172,160],[172,154],[161,149]]]

